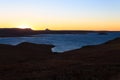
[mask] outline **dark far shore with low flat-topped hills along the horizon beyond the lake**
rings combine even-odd
[[[107,32],[114,31],[86,31],[86,30],[32,30],[30,28],[19,29],[19,28],[0,28],[0,37],[30,37],[36,34],[87,34],[87,33],[99,33],[104,35]],[[119,31],[117,31],[119,32]]]

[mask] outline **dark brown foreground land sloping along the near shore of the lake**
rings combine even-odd
[[[120,38],[62,54],[53,47],[0,44],[0,80],[120,80]]]

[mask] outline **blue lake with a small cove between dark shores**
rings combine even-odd
[[[0,38],[0,44],[17,45],[21,42],[32,42],[37,44],[52,44],[54,52],[64,52],[78,49],[87,45],[97,45],[108,40],[120,37],[120,33],[108,33],[99,35],[98,33],[88,34],[39,34],[32,37],[7,37]]]

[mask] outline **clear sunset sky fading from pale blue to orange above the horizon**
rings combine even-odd
[[[0,0],[0,28],[120,30],[120,0]]]

